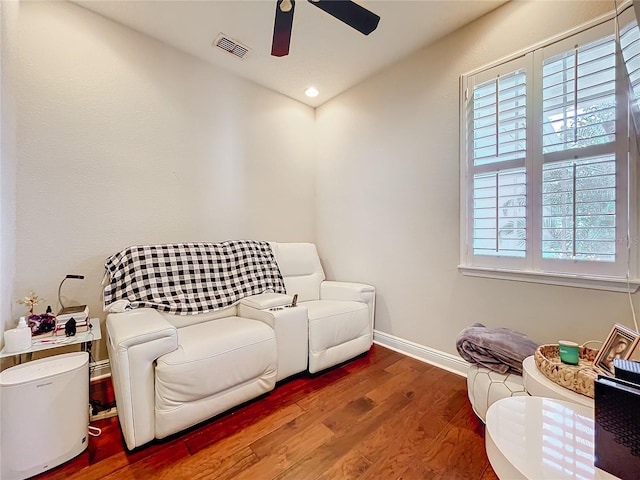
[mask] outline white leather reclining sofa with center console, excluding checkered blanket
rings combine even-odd
[[[271,243],[271,248],[287,295],[254,295],[206,314],[139,308],[107,315],[127,448],[265,394],[278,380],[307,369],[319,372],[369,350],[375,289],[326,281],[313,244]],[[298,303],[291,307],[294,294]]]

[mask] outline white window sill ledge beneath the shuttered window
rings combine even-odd
[[[468,267],[458,265],[458,271],[468,277],[495,278],[516,282],[543,283],[563,287],[591,288],[610,292],[635,293],[640,287],[640,280],[629,280],[586,275],[570,275],[561,273],[541,273],[524,270],[502,270],[486,267]]]

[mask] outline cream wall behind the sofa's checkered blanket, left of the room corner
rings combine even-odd
[[[77,273],[64,296],[104,317],[130,244],[313,241],[312,108],[66,2],[22,4],[19,74],[15,292],[39,309]]]

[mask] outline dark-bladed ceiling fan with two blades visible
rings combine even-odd
[[[309,3],[364,35],[369,35],[373,32],[380,21],[378,15],[352,0],[309,0]],[[273,42],[271,44],[271,55],[274,57],[289,55],[295,6],[295,0],[277,0],[276,18],[273,25]]]

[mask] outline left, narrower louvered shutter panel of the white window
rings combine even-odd
[[[524,60],[470,85],[469,243],[475,256],[524,258],[527,245],[527,71]]]

